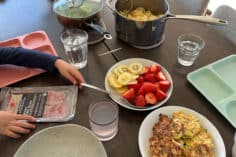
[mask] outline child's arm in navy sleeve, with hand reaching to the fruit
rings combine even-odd
[[[73,84],[85,82],[80,72],[57,56],[24,48],[0,47],[0,64],[41,68],[49,72],[57,69],[61,75]]]

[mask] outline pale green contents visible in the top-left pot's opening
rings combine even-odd
[[[96,1],[84,1],[81,6],[72,3],[57,3],[54,5],[54,11],[64,17],[69,18],[86,18],[101,8],[101,3]]]

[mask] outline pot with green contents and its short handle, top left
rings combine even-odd
[[[55,0],[53,11],[58,21],[66,28],[83,29],[89,26],[105,39],[111,39],[111,35],[104,28],[93,23],[101,18],[103,6],[103,0]]]

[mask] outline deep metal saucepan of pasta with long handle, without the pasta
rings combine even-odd
[[[168,19],[185,19],[219,25],[227,24],[227,21],[209,16],[170,14],[169,4],[166,0],[117,0],[115,4],[112,0],[107,0],[106,3],[115,15],[117,37],[135,46],[151,46],[160,42]],[[120,14],[120,11],[131,11],[136,7],[143,7],[155,15],[162,15],[154,20],[135,21]]]

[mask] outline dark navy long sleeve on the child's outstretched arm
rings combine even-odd
[[[54,64],[59,57],[24,48],[0,47],[0,64],[13,64],[30,68],[54,71]]]

